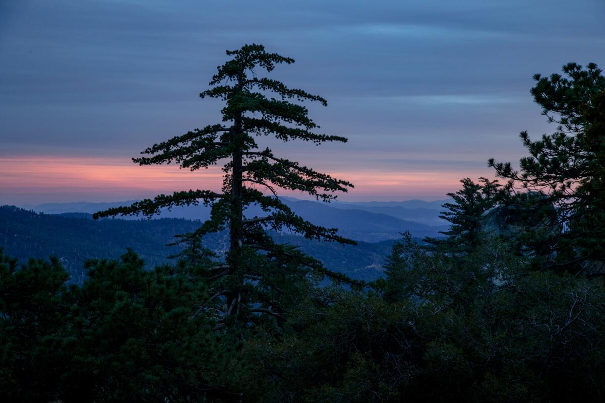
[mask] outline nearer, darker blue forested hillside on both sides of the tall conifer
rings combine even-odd
[[[199,222],[186,219],[154,220],[103,219],[94,221],[88,213],[44,214],[21,208],[0,207],[0,247],[18,259],[57,256],[71,274],[71,281],[81,282],[82,265],[91,258],[116,258],[126,248],[139,253],[149,266],[168,262],[168,256],[181,247],[168,247],[174,234],[197,228]],[[278,242],[290,243],[321,260],[330,269],[355,279],[371,280],[381,276],[384,256],[393,240],[359,245],[307,240],[290,234],[274,234]],[[222,251],[225,234],[213,234],[206,247]]]

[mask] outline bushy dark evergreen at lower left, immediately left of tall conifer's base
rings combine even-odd
[[[70,365],[61,369],[64,401],[238,401],[232,384],[244,364],[235,335],[218,335],[208,314],[203,270],[146,269],[132,251],[89,260],[88,276],[67,300],[73,320]]]

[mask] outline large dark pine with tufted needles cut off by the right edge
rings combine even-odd
[[[557,131],[532,141],[521,133],[530,156],[511,163],[495,163],[497,176],[509,179],[508,204],[526,211],[526,250],[541,268],[571,269],[589,276],[600,274],[605,252],[603,161],[605,161],[605,77],[589,63],[563,66],[550,77],[534,76],[531,94]]]

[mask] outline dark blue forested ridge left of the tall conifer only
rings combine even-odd
[[[197,228],[183,219],[94,221],[90,214],[38,214],[21,208],[0,207],[0,248],[19,260],[56,256],[81,282],[83,263],[91,258],[115,259],[132,248],[148,265],[165,263],[180,247],[166,247],[174,234]]]

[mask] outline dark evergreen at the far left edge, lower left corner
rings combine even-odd
[[[21,266],[0,248],[0,401],[58,398],[71,353],[68,278],[57,259]]]

